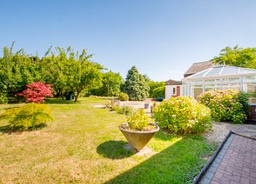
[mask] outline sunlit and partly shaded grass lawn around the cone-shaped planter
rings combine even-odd
[[[47,103],[55,121],[38,131],[7,133],[0,121],[0,183],[192,183],[216,149],[201,136],[159,132],[148,144],[154,153],[139,157],[122,147],[125,116],[93,108],[106,100]]]

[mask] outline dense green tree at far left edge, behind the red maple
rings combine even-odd
[[[41,71],[38,69],[40,59],[37,56],[27,55],[23,49],[13,52],[4,47],[4,56],[0,58],[0,94],[15,97],[26,84],[40,81]]]

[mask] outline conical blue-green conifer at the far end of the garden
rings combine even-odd
[[[124,92],[129,95],[130,100],[145,100],[149,90],[150,87],[145,82],[145,77],[139,73],[135,66],[132,66],[124,82]]]

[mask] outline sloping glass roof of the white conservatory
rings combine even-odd
[[[227,76],[227,75],[237,75],[237,74],[249,74],[249,73],[255,73],[256,69],[246,69],[246,68],[240,68],[235,66],[213,66],[210,69],[206,69],[203,71],[200,71],[196,74],[193,74],[191,76],[188,76],[187,78],[197,78],[197,77],[203,77],[203,76]]]

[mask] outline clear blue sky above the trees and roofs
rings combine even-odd
[[[255,47],[256,1],[0,0],[0,24],[0,48],[86,48],[123,77],[135,65],[162,81],[226,46]]]

